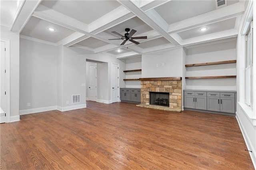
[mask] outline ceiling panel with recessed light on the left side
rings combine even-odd
[[[48,28],[54,28],[55,31],[51,32]],[[23,28],[22,32],[20,32],[20,34],[24,36],[38,38],[53,43],[59,42],[73,33],[73,30],[69,30],[33,16]]]

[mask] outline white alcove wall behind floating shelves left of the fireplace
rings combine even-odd
[[[139,57],[134,57],[126,59],[125,70],[136,70],[141,69],[141,55]],[[139,79],[141,78],[141,71],[136,72],[126,72],[126,79]],[[140,88],[140,81],[125,81],[125,87],[127,88]]]

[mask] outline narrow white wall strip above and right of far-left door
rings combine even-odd
[[[18,121],[20,86],[20,34],[0,26],[0,38],[10,40],[10,120]]]

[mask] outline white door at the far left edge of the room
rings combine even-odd
[[[6,90],[5,90],[5,42],[1,41],[0,55],[0,123],[6,122]]]

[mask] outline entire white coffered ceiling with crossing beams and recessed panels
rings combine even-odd
[[[0,1],[0,24],[20,32],[22,38],[44,40],[54,45],[75,46],[92,53],[127,58],[164,49],[236,37],[248,2],[227,0],[216,9],[216,0],[25,0],[14,6]],[[17,15],[2,11],[15,9]],[[12,19],[14,17],[14,20]],[[50,32],[48,28],[54,28]],[[137,30],[140,44],[122,40],[125,28]],[[207,28],[200,31],[201,28]]]

